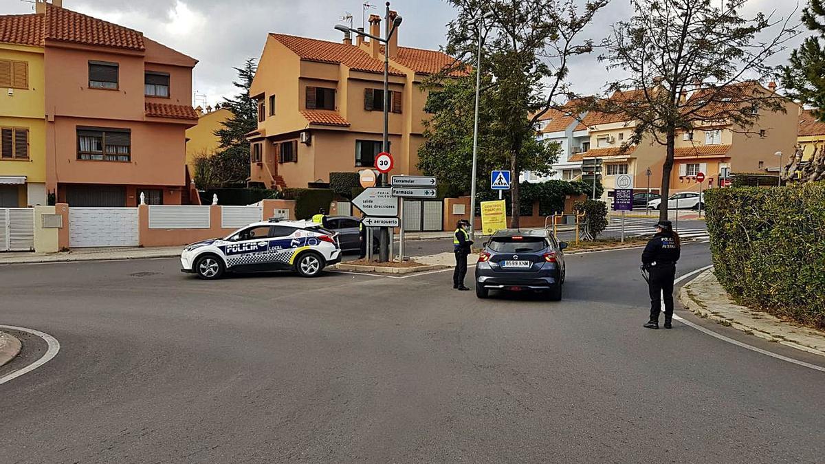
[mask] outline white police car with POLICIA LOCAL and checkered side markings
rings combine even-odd
[[[224,272],[294,270],[315,277],[341,262],[337,234],[305,220],[254,222],[224,239],[186,245],[181,272],[202,279],[217,279]]]

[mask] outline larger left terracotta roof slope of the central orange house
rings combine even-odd
[[[321,63],[344,64],[356,71],[384,73],[384,61],[375,59],[357,45],[339,44],[328,40],[308,39],[299,36],[270,33],[270,36],[292,50],[301,59]],[[403,76],[401,71],[389,67],[389,73]]]

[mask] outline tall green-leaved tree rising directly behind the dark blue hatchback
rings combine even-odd
[[[500,155],[496,156],[506,160],[516,178],[510,192],[512,227],[519,225],[519,173],[525,168],[544,170],[542,165],[530,166],[531,156],[544,156],[544,166],[553,162],[547,151],[537,151],[540,147],[535,144],[536,122],[549,109],[559,107],[556,101],[568,92],[569,60],[592,51],[592,42],[579,41],[578,36],[608,1],[590,0],[579,8],[574,0],[448,0],[458,10],[458,17],[448,24],[446,52],[457,58],[460,69],[464,69],[461,63],[476,62],[479,28],[485,28],[483,112],[488,119],[479,124],[479,134],[485,131],[487,149],[497,150]],[[490,13],[488,20],[471,21],[485,13]],[[464,90],[469,89],[469,83],[472,80],[463,84]],[[472,121],[472,100],[445,103],[462,106],[446,106],[441,111],[460,111],[464,117],[469,114]],[[466,122],[441,126],[443,123],[435,121],[430,126],[431,135],[440,131],[447,135],[450,127],[464,130],[452,135],[466,140],[469,134],[469,152],[466,142],[445,145],[461,149],[460,155],[451,157],[451,163],[469,163],[472,125],[468,130]],[[426,154],[427,149],[424,150]],[[450,152],[442,155],[446,153]],[[461,158],[457,158],[459,156]],[[469,165],[460,167],[469,172]]]

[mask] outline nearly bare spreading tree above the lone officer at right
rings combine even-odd
[[[766,61],[784,50],[794,30],[787,19],[761,12],[742,17],[745,2],[728,0],[720,8],[709,0],[631,0],[634,16],[616,23],[602,42],[600,59],[629,77],[609,83],[620,97],[600,99],[596,107],[636,121],[625,146],[647,136],[666,147],[662,198],[669,196],[677,131],[731,124],[747,132],[759,111],[785,109],[782,98],[753,79],[771,74]],[[779,31],[769,36],[775,26]],[[667,219],[667,209],[660,218]]]

